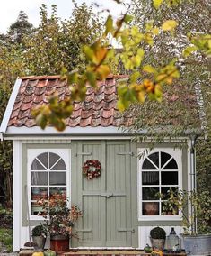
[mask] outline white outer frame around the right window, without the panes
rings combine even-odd
[[[148,150],[146,153],[145,151]],[[138,168],[137,168],[137,209],[138,209],[138,221],[163,221],[163,220],[171,220],[171,221],[181,221],[182,214],[179,211],[179,215],[142,215],[142,165],[145,161],[145,158],[155,152],[163,151],[164,153],[170,154],[174,160],[176,160],[178,165],[178,186],[179,189],[182,189],[182,151],[180,149],[173,149],[173,148],[159,148],[156,147],[153,150],[149,150],[146,148],[138,148],[137,153],[140,157],[138,158]],[[143,154],[143,156],[142,156]],[[155,170],[154,170],[155,171]],[[160,173],[160,171],[159,171]],[[160,174],[159,174],[160,175]],[[151,187],[151,186],[147,186]],[[154,186],[152,186],[154,187]],[[159,187],[161,185],[159,184]],[[169,186],[168,186],[169,187]],[[152,200],[154,202],[155,200]],[[159,206],[160,209],[160,206]]]

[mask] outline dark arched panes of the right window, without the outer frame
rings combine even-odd
[[[166,205],[169,191],[180,187],[180,168],[175,151],[154,151],[140,161],[139,211],[141,216],[179,215]]]

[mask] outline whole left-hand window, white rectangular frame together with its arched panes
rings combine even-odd
[[[37,199],[48,197],[57,192],[71,201],[70,150],[67,149],[28,149],[27,187],[31,220],[42,220],[37,215],[40,207]]]

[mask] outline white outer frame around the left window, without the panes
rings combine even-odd
[[[35,160],[36,157],[38,157],[40,154],[45,152],[52,152],[57,154],[62,160],[65,161],[66,164],[66,198],[67,206],[71,206],[71,150],[70,149],[28,149],[27,150],[27,187],[28,187],[28,206],[29,206],[29,212],[30,212],[30,219],[31,220],[44,220],[43,216],[38,215],[31,215],[31,164],[33,160]],[[41,187],[41,186],[38,186]],[[49,186],[44,186],[48,187]],[[60,186],[59,186],[60,187]],[[62,186],[61,186],[62,187]]]

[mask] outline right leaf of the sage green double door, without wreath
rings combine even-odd
[[[106,246],[131,246],[129,143],[109,142],[106,151],[106,187],[112,194],[106,202]]]

